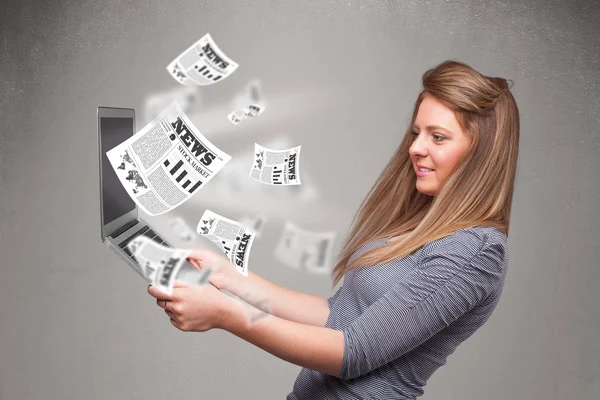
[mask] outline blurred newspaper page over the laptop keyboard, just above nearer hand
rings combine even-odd
[[[127,247],[138,261],[148,282],[171,294],[175,277],[190,251],[165,247],[145,236],[133,239]]]

